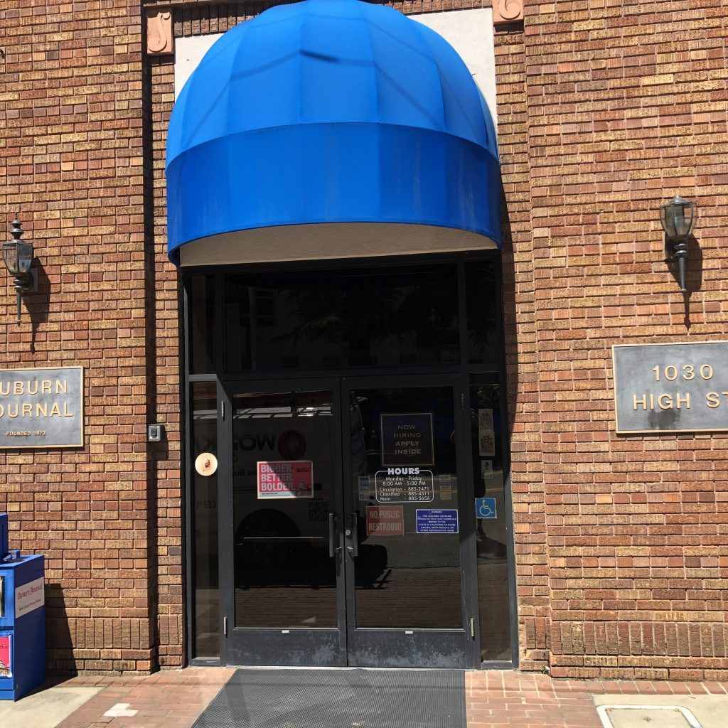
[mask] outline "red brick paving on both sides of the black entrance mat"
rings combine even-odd
[[[71,678],[63,685],[103,689],[58,728],[190,728],[232,673],[186,668]],[[592,695],[728,695],[724,683],[564,680],[500,670],[467,673],[465,689],[467,728],[602,728]],[[116,712],[135,713],[104,715],[119,704],[127,707]]]

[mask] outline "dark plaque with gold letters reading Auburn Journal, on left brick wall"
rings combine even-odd
[[[0,371],[0,448],[83,444],[83,367]]]

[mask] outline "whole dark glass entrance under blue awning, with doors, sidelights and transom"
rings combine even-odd
[[[494,271],[189,275],[197,660],[511,662]]]

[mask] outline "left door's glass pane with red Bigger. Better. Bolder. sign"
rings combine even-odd
[[[336,627],[331,392],[233,397],[236,627]]]

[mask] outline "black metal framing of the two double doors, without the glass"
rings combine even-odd
[[[458,500],[459,545],[461,563],[462,629],[386,629],[355,626],[355,563],[352,539],[344,536],[355,513],[351,487],[351,438],[349,428],[349,391],[351,389],[387,389],[395,387],[448,387],[453,392],[453,416],[456,433],[456,463],[459,475]],[[237,628],[235,626],[234,585],[234,489],[233,397],[247,392],[331,391],[333,407],[333,472],[336,513],[336,602],[338,628]],[[221,403],[218,412],[219,473],[218,500],[220,515],[220,604],[223,630],[221,662],[228,665],[290,665],[290,655],[300,657],[301,665],[317,667],[352,665],[359,667],[475,667],[475,625],[477,595],[472,584],[470,542],[472,524],[468,504],[472,502],[472,483],[465,477],[464,418],[458,403],[463,403],[462,381],[458,374],[419,374],[336,376],[268,379],[226,379],[218,384]],[[356,531],[354,531],[356,533]],[[474,611],[475,610],[475,611]],[[224,656],[223,656],[224,652]],[[459,653],[459,655],[458,655]],[[416,664],[403,664],[402,655],[417,654]],[[427,659],[438,655],[438,659]]]

